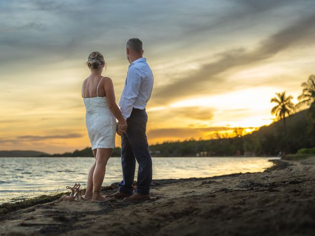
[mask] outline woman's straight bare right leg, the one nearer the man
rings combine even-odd
[[[112,148],[97,148],[95,169],[93,174],[93,197],[92,201],[105,201],[100,195],[100,188],[104,181],[106,164],[112,152]]]

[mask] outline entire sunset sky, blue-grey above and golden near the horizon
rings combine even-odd
[[[315,73],[314,9],[314,0],[0,0],[0,150],[90,147],[85,62],[104,55],[118,103],[131,37],[155,78],[150,144],[270,124],[275,92],[296,103]]]

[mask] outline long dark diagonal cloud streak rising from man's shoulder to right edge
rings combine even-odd
[[[180,99],[188,94],[216,93],[222,89],[230,89],[224,79],[218,75],[231,68],[249,65],[257,61],[271,58],[277,53],[295,45],[299,40],[308,38],[314,40],[315,14],[305,17],[295,24],[280,30],[269,38],[262,40],[257,49],[249,52],[244,48],[222,52],[219,60],[204,64],[186,77],[174,83],[154,89],[154,101],[165,104]]]

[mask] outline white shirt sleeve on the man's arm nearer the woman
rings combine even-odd
[[[140,91],[141,79],[141,69],[131,66],[128,70],[125,89],[120,101],[122,115],[125,119],[130,117],[133,103]]]

